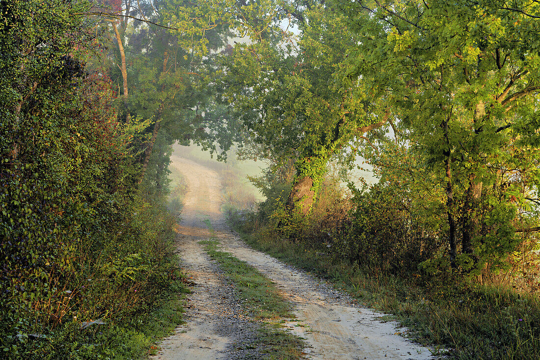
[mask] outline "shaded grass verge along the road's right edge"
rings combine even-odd
[[[455,279],[383,275],[340,260],[326,247],[278,239],[268,229],[242,237],[255,249],[328,279],[359,303],[393,314],[434,352],[446,348],[453,359],[540,359],[536,296]]]

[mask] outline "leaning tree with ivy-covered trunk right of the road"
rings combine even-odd
[[[287,207],[306,215],[327,162],[387,117],[383,104],[365,101],[358,77],[340,74],[356,44],[343,16],[318,2],[272,6],[246,9],[258,15],[246,18],[260,21],[246,30],[251,42],[222,57],[222,86],[261,153],[294,161]],[[274,17],[261,16],[264,10]],[[283,19],[299,35],[284,31]]]

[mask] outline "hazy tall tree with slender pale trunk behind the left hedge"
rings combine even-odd
[[[122,117],[147,124],[131,141],[140,165],[134,182],[145,181],[149,191],[155,190],[147,187],[151,184],[161,191],[174,141],[193,141],[218,152],[219,158],[232,145],[233,119],[216,106],[210,86],[212,58],[230,35],[230,6],[215,1],[130,4],[125,1],[129,13],[111,12],[104,22],[112,27],[111,43],[118,43],[109,52],[110,73],[124,84]],[[145,180],[149,167],[152,175]]]

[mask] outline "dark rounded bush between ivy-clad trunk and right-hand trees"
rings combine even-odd
[[[392,274],[418,271],[443,245],[441,227],[420,214],[401,194],[384,185],[356,191],[346,229],[335,239],[335,252],[359,266]]]

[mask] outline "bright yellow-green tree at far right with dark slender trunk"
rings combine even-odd
[[[538,201],[540,6],[336,4],[360,44],[345,73],[388,104],[407,151],[444,189],[451,262],[507,255],[517,204]]]

